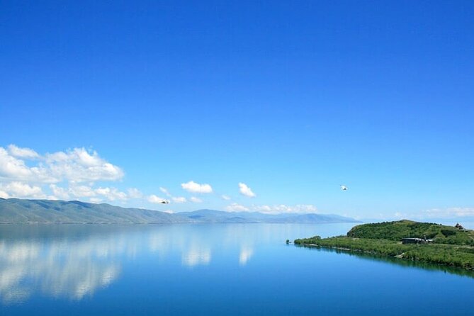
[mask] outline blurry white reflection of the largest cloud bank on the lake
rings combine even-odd
[[[0,299],[18,303],[34,290],[54,298],[80,300],[108,286],[120,274],[113,240],[0,243]]]

